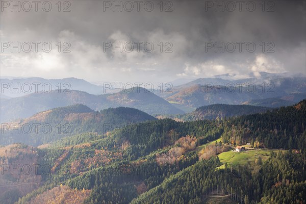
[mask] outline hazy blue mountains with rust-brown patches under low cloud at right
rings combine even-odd
[[[283,99],[283,103],[278,103],[277,106],[269,105],[269,107],[279,107],[292,105],[306,98],[306,82],[304,77],[237,81],[197,79],[179,87],[173,87],[171,93],[160,95],[170,103],[192,108],[220,103],[248,104],[247,101],[266,98]],[[253,103],[253,105],[264,106],[260,103]]]

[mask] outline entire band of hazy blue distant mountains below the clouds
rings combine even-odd
[[[137,108],[151,115],[161,115],[184,114],[201,106],[213,104],[245,104],[275,108],[290,106],[306,98],[306,82],[302,75],[286,77],[288,73],[267,72],[260,72],[260,75],[260,78],[251,76],[251,78],[240,80],[232,80],[236,77],[232,74],[193,81],[180,79],[173,82],[179,86],[173,86],[169,90],[161,91],[155,87],[156,89],[150,93],[143,88],[134,87],[133,91],[126,89],[121,93],[119,91],[113,93],[112,89],[107,89],[108,92],[111,92],[107,94],[102,94],[105,92],[103,86],[75,78],[61,80],[1,79],[2,88],[3,86],[9,86],[9,88],[2,89],[3,93],[0,95],[0,120],[5,122],[25,118],[40,111],[75,104],[84,104],[95,111],[124,106]],[[182,84],[185,82],[187,83]],[[30,93],[24,91],[18,93],[18,88],[11,90],[11,86],[26,89],[27,83],[32,88]],[[35,83],[39,83],[37,91],[40,92],[38,93],[35,93]],[[45,92],[48,92],[49,85],[52,91],[42,92],[43,84],[47,84]],[[65,91],[65,89],[68,90]]]

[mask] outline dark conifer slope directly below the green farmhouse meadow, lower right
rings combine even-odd
[[[290,152],[272,154],[260,173],[252,175],[248,166],[216,170],[221,165],[218,158],[200,160],[131,203],[214,203],[210,197],[225,197],[217,203],[305,203],[304,161],[305,156]]]

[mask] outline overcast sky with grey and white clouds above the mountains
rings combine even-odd
[[[305,1],[238,2],[1,1],[0,74],[97,84],[305,74]]]

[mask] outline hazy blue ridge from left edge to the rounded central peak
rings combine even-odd
[[[49,109],[83,104],[100,111],[107,108],[137,108],[148,114],[183,114],[180,109],[168,101],[141,87],[123,90],[122,93],[93,95],[83,91],[71,90],[70,93],[32,93],[21,97],[10,98],[1,103],[1,121],[26,118]]]

